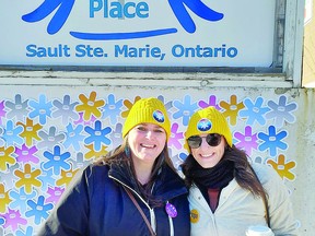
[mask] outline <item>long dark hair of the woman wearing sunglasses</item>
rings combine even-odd
[[[242,188],[247,189],[254,196],[264,198],[265,194],[264,187],[257,179],[248,162],[248,156],[244,151],[237,149],[235,145],[233,145],[232,148],[228,146],[225,148],[222,160],[231,161],[234,163],[233,174],[235,180]],[[191,179],[190,177],[192,176],[190,173],[194,172],[192,164],[194,164],[194,156],[190,154],[182,165],[183,173],[186,176],[185,181],[188,187],[190,187],[194,181],[194,179]]]

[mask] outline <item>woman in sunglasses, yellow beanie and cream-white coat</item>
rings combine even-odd
[[[289,192],[266,165],[249,164],[232,144],[225,117],[214,107],[195,113],[185,138],[183,173],[190,187],[190,235],[244,236],[252,225],[298,235]]]

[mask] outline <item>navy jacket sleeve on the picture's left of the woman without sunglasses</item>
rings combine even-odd
[[[66,188],[57,205],[39,228],[38,236],[88,235],[89,225],[89,181],[91,167],[79,170]]]

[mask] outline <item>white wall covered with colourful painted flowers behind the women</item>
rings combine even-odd
[[[129,109],[148,96],[159,97],[168,110],[170,153],[178,169],[187,156],[183,144],[189,117],[214,106],[228,118],[233,143],[253,162],[275,168],[291,197],[300,198],[295,133],[303,125],[299,116],[305,97],[299,91],[3,85],[0,235],[35,235],[79,168],[120,144]],[[298,213],[296,224],[303,227],[300,217]]]

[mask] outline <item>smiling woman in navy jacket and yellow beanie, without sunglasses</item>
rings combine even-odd
[[[167,153],[171,123],[156,98],[138,101],[115,151],[78,174],[39,235],[189,235],[187,189]]]

